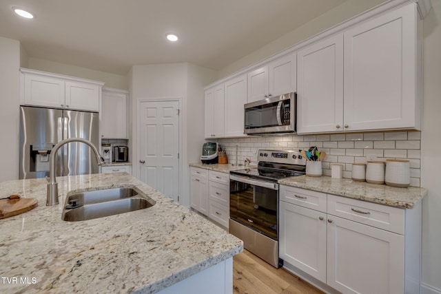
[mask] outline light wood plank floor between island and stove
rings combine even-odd
[[[245,250],[233,258],[233,293],[322,294],[285,269],[276,269]]]

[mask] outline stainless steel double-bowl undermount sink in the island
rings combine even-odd
[[[86,191],[68,196],[62,219],[68,222],[79,222],[146,209],[153,205],[132,188]]]

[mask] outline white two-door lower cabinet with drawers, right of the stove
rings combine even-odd
[[[419,293],[420,224],[420,204],[398,209],[280,185],[280,258],[327,291]]]

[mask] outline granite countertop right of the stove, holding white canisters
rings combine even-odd
[[[414,204],[427,195],[427,189],[424,188],[389,187],[387,185],[359,182],[348,178],[331,178],[330,176],[296,176],[278,180],[278,183],[280,185],[319,191],[401,209],[413,208]]]

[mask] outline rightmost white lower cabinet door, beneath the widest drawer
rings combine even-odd
[[[404,293],[404,236],[329,215],[327,284],[341,293]]]

